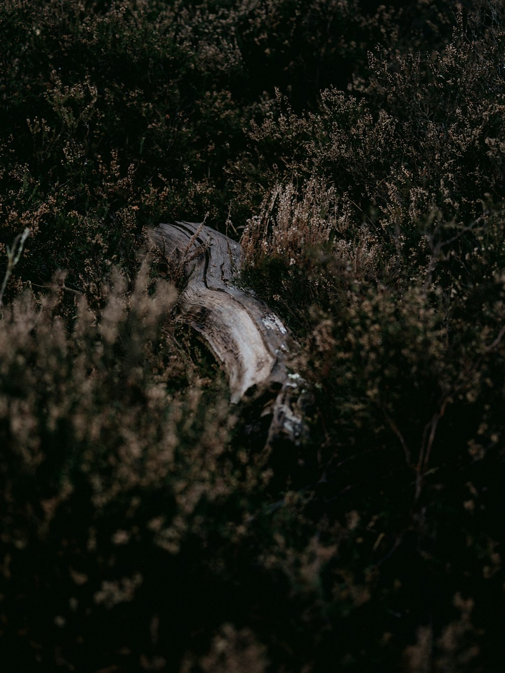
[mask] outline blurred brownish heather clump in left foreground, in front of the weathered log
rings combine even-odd
[[[79,297],[68,329],[63,277],[5,309],[6,670],[174,666],[189,632],[220,619],[219,564],[240,551],[235,531],[258,507],[263,481],[232,451],[234,415],[219,377],[205,388],[184,359],[170,318],[174,289],[148,293],[148,284],[143,267],[125,295],[117,275],[102,312]]]

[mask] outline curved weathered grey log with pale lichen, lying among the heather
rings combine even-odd
[[[287,366],[296,345],[264,302],[237,287],[240,244],[205,225],[180,221],[160,224],[151,238],[186,279],[178,320],[195,329],[222,363],[231,402],[253,386],[277,388],[265,409],[273,417],[269,440],[283,435],[298,441],[304,431],[297,408],[304,382]]]

